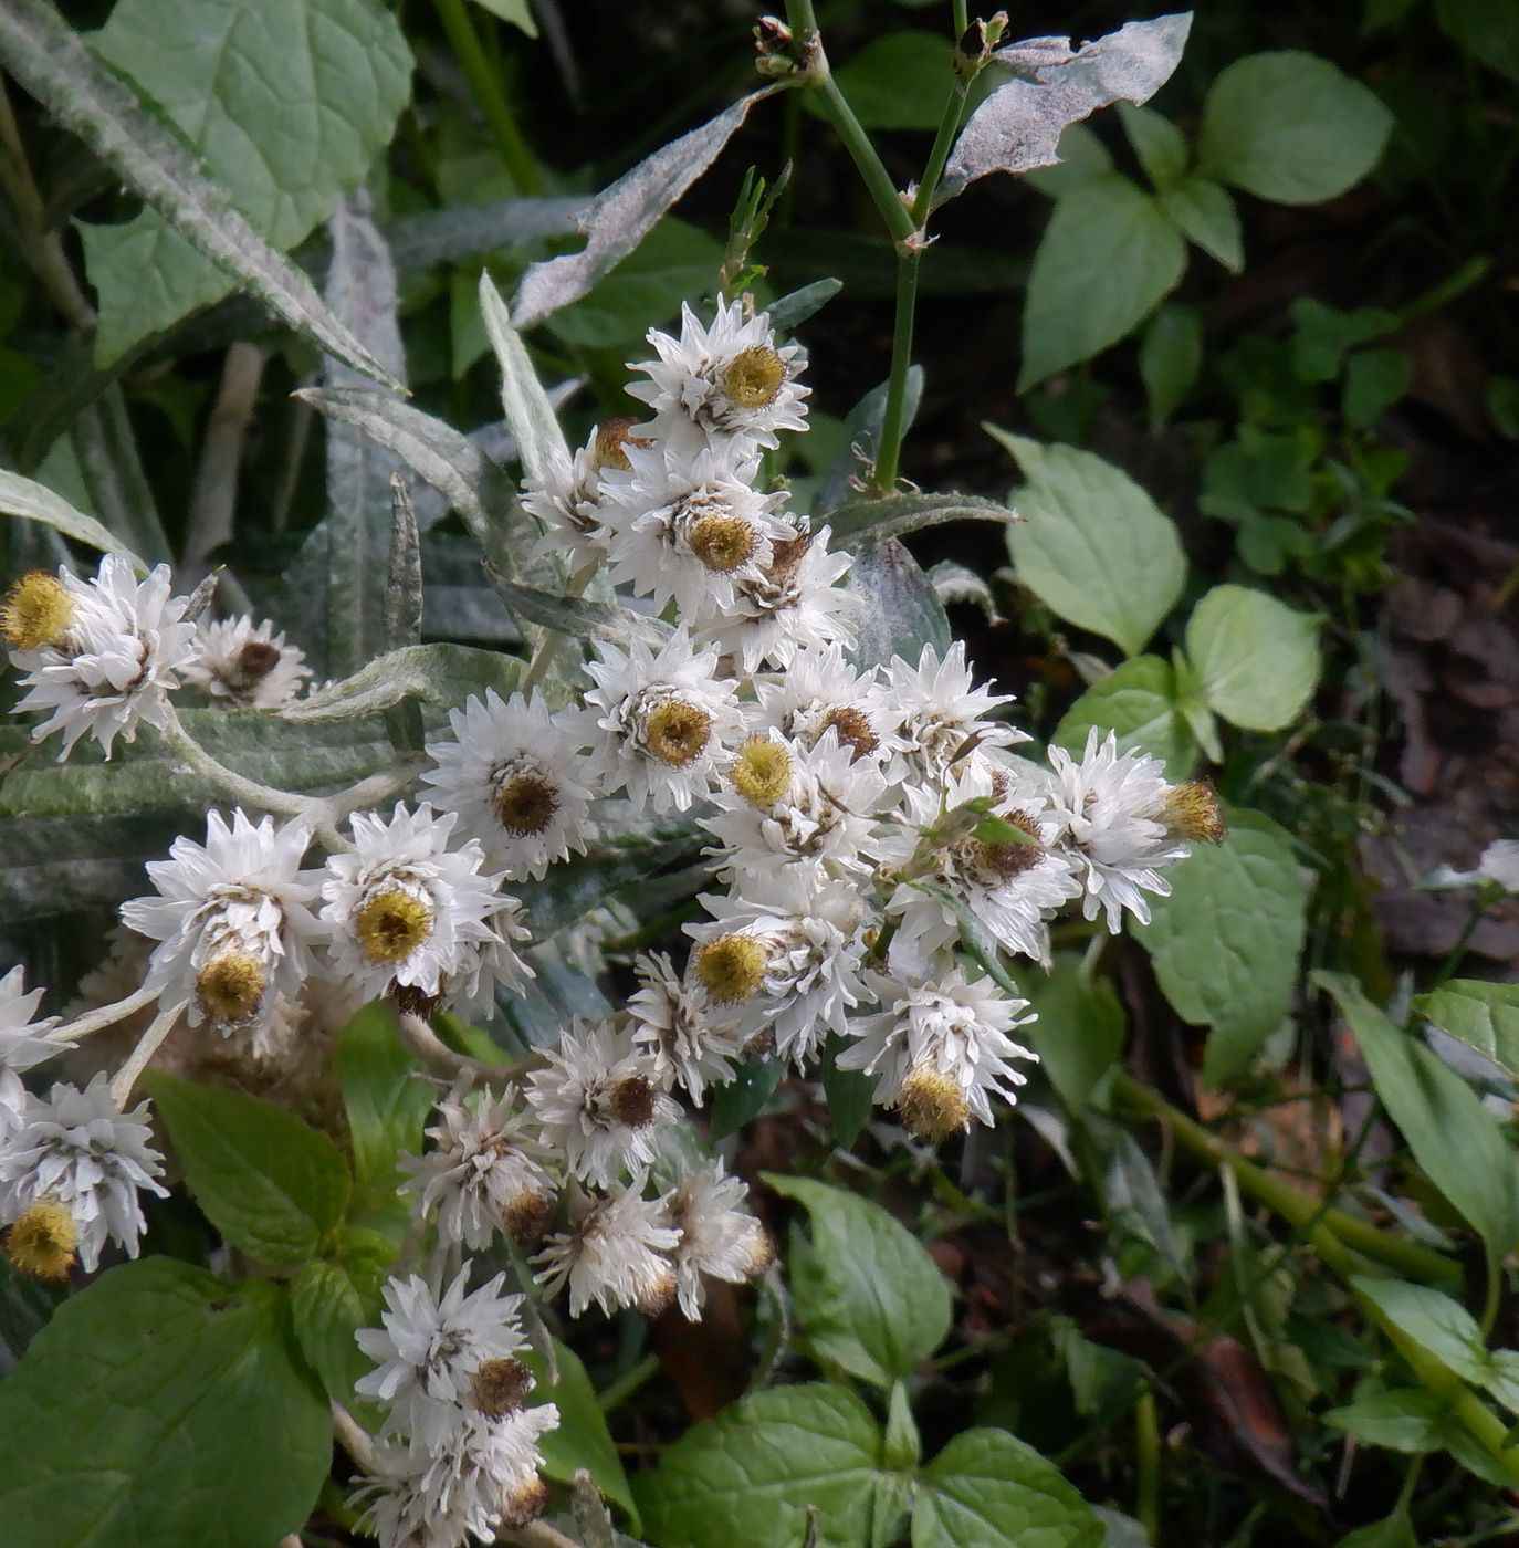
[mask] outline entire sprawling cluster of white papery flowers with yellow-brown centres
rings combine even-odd
[[[579,683],[534,670],[542,686],[469,698],[387,811],[288,793],[269,808],[283,820],[212,811],[204,842],[175,841],[121,910],[146,964],[118,1019],[153,1003],[144,1040],[173,1023],[277,1063],[313,995],[336,994],[386,998],[415,1046],[454,1060],[426,1147],[403,1158],[427,1272],[398,1271],[382,1325],[359,1334],[376,1362],[359,1392],[386,1413],[365,1522],[386,1548],[491,1540],[543,1500],[556,1413],[526,1406],[520,1296],[502,1276],[471,1291],[475,1254],[525,1251],[525,1288],[564,1294],[570,1316],[700,1317],[709,1283],[756,1277],[771,1243],[745,1184],[672,1142],[689,1108],[748,1059],[805,1073],[828,1050],[921,1139],[991,1124],[1034,1057],[997,954],[1047,961],[1065,909],[1109,930],[1147,920],[1164,870],[1222,836],[1208,786],[1168,782],[1112,735],[1079,759],[1022,757],[1011,700],[960,646],[859,659],[849,556],[765,474],[807,427],[801,348],[737,302],[649,337],[630,387],[646,416],[604,423],[523,497],[545,548],[633,599]],[[50,714],[37,735],[110,754],[146,721],[192,755],[170,690],[265,712],[303,690],[273,625],[186,613],[163,570],[138,580],[121,556],[84,582],[25,576],[0,628],[20,709]],[[252,805],[246,785],[232,794]],[[636,955],[613,1014],[516,1067],[451,1054],[430,1020],[486,1023],[520,994],[522,899],[619,824],[684,824],[709,862],[683,950]],[[0,1220],[22,1266],[67,1272],[77,1252],[90,1269],[107,1238],[136,1251],[159,1161],[144,1110],[119,1107],[130,1071],[122,1090],[26,1090],[20,1071],[70,1040],[34,1011],[17,974],[0,985]]]

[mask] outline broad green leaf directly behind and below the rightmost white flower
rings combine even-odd
[[[1223,844],[1194,844],[1169,898],[1130,926],[1172,1009],[1211,1026],[1203,1077],[1243,1071],[1288,1014],[1302,950],[1307,890],[1291,841],[1270,817],[1231,811]]]

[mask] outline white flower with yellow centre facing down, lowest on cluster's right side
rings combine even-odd
[[[993,1122],[993,1096],[1017,1101],[1025,1076],[1011,1060],[1037,1057],[1008,1037],[1037,1019],[1024,1014],[1027,1000],[954,966],[921,980],[875,974],[872,981],[881,1009],[849,1023],[839,1068],[876,1076],[875,1101],[898,1108],[915,1135],[943,1139],[971,1118]]]

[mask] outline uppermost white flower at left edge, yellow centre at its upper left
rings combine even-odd
[[[62,568],[56,580],[39,573],[17,582],[0,616],[6,638],[22,642],[11,659],[28,692],[15,707],[48,715],[34,741],[60,731],[62,759],[90,734],[110,757],[118,735],[133,741],[139,723],[164,724],[169,694],[195,656],[187,599],[170,591],[167,565],[138,580],[122,554],[105,554],[88,580]]]

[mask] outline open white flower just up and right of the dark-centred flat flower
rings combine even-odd
[[[695,650],[677,628],[658,649],[632,641],[624,653],[598,641],[585,670],[582,746],[607,794],[627,791],[635,808],[689,810],[706,796],[742,724],[731,683],[717,678],[717,650]]]

